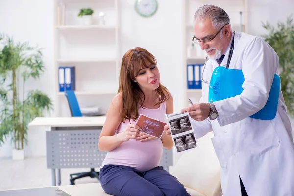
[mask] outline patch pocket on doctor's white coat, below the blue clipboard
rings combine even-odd
[[[251,119],[243,129],[245,144],[253,155],[260,156],[280,144],[276,131],[268,120]]]

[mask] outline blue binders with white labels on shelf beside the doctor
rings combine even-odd
[[[188,64],[187,65],[187,88],[201,89],[201,73],[203,64]]]

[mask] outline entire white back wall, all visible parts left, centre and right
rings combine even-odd
[[[119,0],[120,55],[140,46],[150,51],[158,60],[162,83],[171,91],[174,109],[183,107],[182,69],[182,2],[158,0],[158,12],[151,18],[140,17],[134,11],[135,0]],[[249,32],[261,35],[265,31],[261,21],[285,20],[293,13],[293,0],[248,0]],[[196,9],[196,8],[195,8]],[[272,11],[274,10],[274,11]],[[39,82],[30,82],[31,88],[43,89],[54,99],[53,69],[53,0],[0,0],[0,32],[13,35],[15,40],[29,41],[45,48],[44,65],[47,71]],[[10,140],[0,148],[0,157],[11,156]],[[28,131],[26,156],[46,153],[45,128]]]

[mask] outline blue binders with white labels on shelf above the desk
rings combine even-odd
[[[75,90],[75,67],[59,67],[59,92]]]

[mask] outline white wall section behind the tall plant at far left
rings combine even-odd
[[[53,0],[0,0],[0,32],[15,41],[28,41],[44,48],[45,73],[38,82],[28,81],[27,87],[38,88],[54,100],[53,67]],[[45,129],[28,131],[27,156],[45,154]],[[0,147],[0,157],[11,156],[10,138]]]

